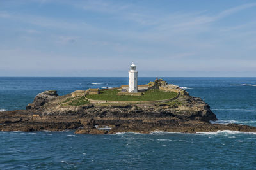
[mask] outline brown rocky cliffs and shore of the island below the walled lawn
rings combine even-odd
[[[173,85],[179,97],[165,103],[84,103],[72,105],[84,96],[58,96],[56,91],[38,94],[26,110],[0,112],[0,131],[64,131],[77,134],[116,132],[256,132],[256,127],[238,124],[211,124],[217,120],[210,106],[198,97]]]

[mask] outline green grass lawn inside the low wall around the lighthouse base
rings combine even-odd
[[[157,89],[148,90],[144,92],[142,96],[118,96],[117,89],[109,89],[100,91],[100,94],[90,94],[86,95],[88,99],[93,100],[106,100],[106,101],[157,101],[170,99],[177,96],[176,92],[163,92]]]

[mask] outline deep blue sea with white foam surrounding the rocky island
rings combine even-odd
[[[139,84],[155,78],[138,78]],[[211,106],[220,124],[256,127],[256,78],[171,78]],[[127,78],[0,78],[0,111],[25,109],[36,94],[118,87]],[[0,112],[1,114],[1,112]],[[0,169],[256,169],[256,134],[131,132],[90,135],[0,132]]]

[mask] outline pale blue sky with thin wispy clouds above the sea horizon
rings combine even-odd
[[[0,0],[0,76],[256,75],[256,1]]]

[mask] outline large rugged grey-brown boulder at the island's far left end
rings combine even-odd
[[[56,90],[42,92],[36,95],[33,103],[29,103],[28,106],[26,106],[26,110],[40,108],[40,106],[43,106],[45,103],[56,99],[57,96],[58,94]]]

